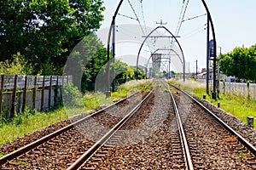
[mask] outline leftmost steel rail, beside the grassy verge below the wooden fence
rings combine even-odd
[[[108,105],[108,107],[103,108],[100,111],[96,111],[95,113],[93,113],[93,114],[91,114],[89,116],[85,116],[84,118],[80,119],[77,122],[73,122],[72,124],[68,125],[67,127],[62,127],[61,129],[59,129],[59,130],[57,130],[57,131],[55,131],[53,133],[49,133],[48,135],[42,137],[41,139],[38,139],[38,140],[36,140],[36,141],[34,141],[34,142],[30,143],[30,144],[26,144],[25,146],[20,147],[20,149],[14,150],[14,151],[10,152],[9,154],[7,154],[7,155],[5,155],[3,157],[0,157],[0,164],[5,163],[6,161],[10,161],[10,160],[14,159],[17,156],[20,156],[20,155],[26,153],[27,151],[32,150],[33,148],[37,147],[40,144],[44,144],[49,139],[53,139],[56,136],[60,135],[61,133],[67,132],[71,128],[73,128],[73,127],[81,124],[82,122],[88,120],[90,117],[96,116],[96,115],[102,113],[103,111],[106,111],[106,110],[112,108],[114,105],[118,105],[119,103],[124,102],[126,99],[130,99],[132,96],[134,96],[134,95],[136,95],[138,93],[139,92],[136,92],[134,94],[131,94],[130,96],[127,96],[124,99],[120,99],[118,102],[113,103],[112,105]]]

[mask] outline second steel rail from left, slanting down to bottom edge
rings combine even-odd
[[[87,161],[93,154],[96,152],[96,150],[99,150],[103,144],[105,144],[108,139],[110,139],[114,133],[116,133],[120,127],[122,127],[125,122],[129,120],[131,116],[133,116],[134,113],[136,113],[141,106],[149,99],[149,97],[153,94],[154,89],[132,110],[130,111],[120,122],[118,122],[112,129],[106,133],[102,139],[99,139],[96,144],[93,144],[89,150],[85,151],[82,156],[79,157],[76,161],[73,162],[72,165],[67,167],[67,170],[73,170],[78,169],[80,166],[84,164],[85,161]]]

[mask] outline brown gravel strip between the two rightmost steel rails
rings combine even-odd
[[[255,147],[179,88],[177,100],[195,169],[256,169]]]

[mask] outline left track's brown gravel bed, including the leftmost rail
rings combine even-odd
[[[1,169],[63,169],[68,167],[96,140],[121,120],[125,113],[131,111],[145,94],[132,94],[114,105],[97,111],[90,116],[76,116],[67,125],[57,125],[49,131],[36,134],[33,139],[20,139],[25,146],[18,148],[8,144],[5,149],[6,156],[0,158]],[[85,116],[85,117],[84,117]],[[46,128],[47,129],[47,128]],[[46,135],[46,136],[44,136]],[[37,137],[40,139],[37,139]],[[20,144],[22,145],[22,144]],[[10,150],[10,151],[9,151]],[[9,152],[8,152],[9,151]]]

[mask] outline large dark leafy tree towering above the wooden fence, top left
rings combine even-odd
[[[102,0],[1,0],[0,59],[20,52],[34,74],[61,70],[75,45],[100,27],[103,10]]]

